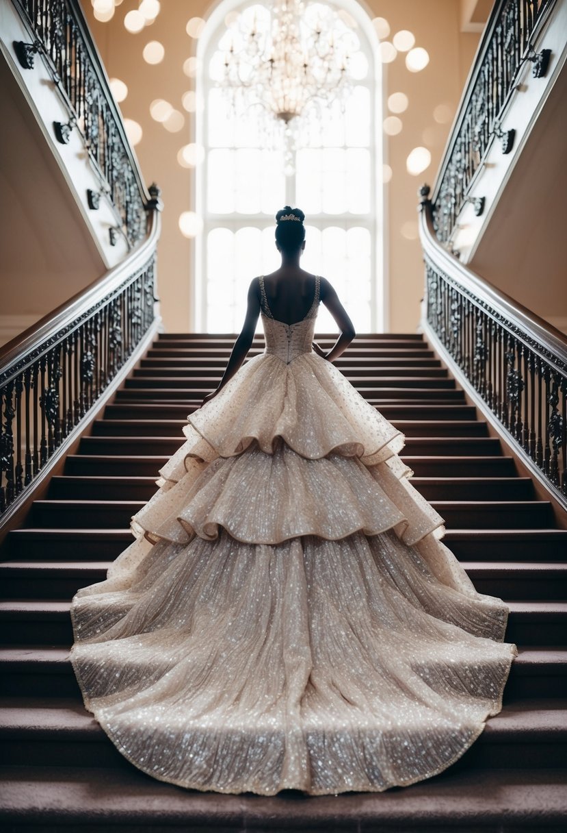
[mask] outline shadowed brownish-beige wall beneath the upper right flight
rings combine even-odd
[[[564,67],[470,266],[567,332],[567,67]]]

